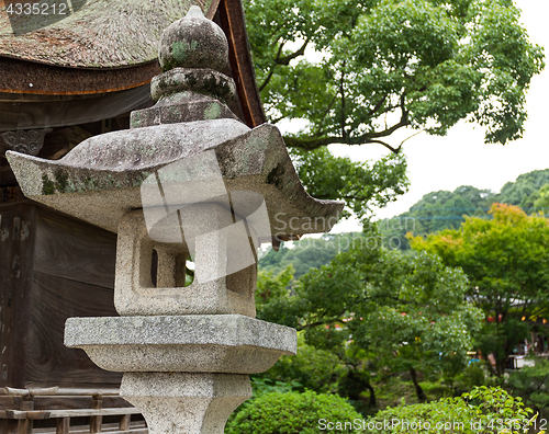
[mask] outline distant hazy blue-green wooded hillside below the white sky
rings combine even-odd
[[[500,193],[471,185],[459,186],[453,192],[427,193],[408,212],[378,222],[381,242],[389,249],[410,251],[406,233],[425,236],[458,229],[464,222],[463,216],[491,218],[489,210],[494,203],[518,206],[528,215],[549,214],[549,169],[524,173],[507,182]],[[266,252],[259,261],[259,270],[276,275],[291,265],[293,277],[299,278],[310,269],[326,265],[337,253],[346,252],[354,240],[363,237],[360,232],[325,233],[318,239],[294,241],[291,248],[282,244],[278,252]],[[362,242],[368,239],[363,238]]]

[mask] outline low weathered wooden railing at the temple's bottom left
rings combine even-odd
[[[0,433],[2,434],[72,434],[72,433],[109,433],[109,434],[147,434],[148,430],[142,418],[132,421],[132,414],[141,414],[133,407],[103,408],[103,397],[117,397],[117,391],[92,391],[90,389],[0,389],[2,396],[20,398],[19,410],[0,409]],[[91,408],[86,409],[35,409],[36,397],[70,399],[91,397]],[[103,424],[109,416],[110,423]],[[71,423],[76,418],[86,423]],[[36,421],[51,420],[52,423]],[[112,422],[116,420],[116,422]],[[55,421],[55,423],[53,423]],[[89,423],[88,423],[89,421]],[[36,426],[37,425],[37,426]],[[44,426],[52,425],[52,426]]]

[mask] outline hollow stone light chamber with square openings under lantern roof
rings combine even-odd
[[[194,205],[181,212],[187,214],[183,221],[193,222],[191,227],[186,225],[184,236],[176,214],[172,214],[173,226],[168,221],[164,231],[153,227],[150,233],[143,210],[128,213],[121,219],[114,285],[116,311],[121,316],[240,313],[255,317],[256,261],[247,238],[247,252],[242,241],[229,245],[232,239],[223,228],[233,224],[231,212],[215,204]],[[179,232],[179,239],[178,233],[171,231]],[[172,242],[158,241],[164,237]],[[193,245],[189,248],[188,242]],[[158,252],[156,286],[150,275],[153,250]],[[194,281],[184,287],[184,260],[191,252]],[[250,256],[249,261],[233,267],[236,273],[227,270],[229,261],[242,261],[245,254]]]

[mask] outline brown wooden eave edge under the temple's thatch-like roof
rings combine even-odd
[[[200,0],[197,2],[203,7]],[[232,110],[250,127],[265,123],[240,0],[214,0],[206,16],[217,22],[227,36],[226,72],[238,90],[238,102]],[[25,42],[29,36],[22,39]],[[18,58],[13,50],[2,50],[0,37],[0,132],[78,125],[152,104],[149,82],[160,73],[156,58],[144,57],[146,61],[132,65],[122,61],[117,67],[83,67],[71,65],[70,58],[66,65],[59,65],[58,57],[48,62],[44,56],[32,56],[31,48],[32,44],[23,47],[20,53],[24,56]],[[87,100],[83,104],[82,99]]]

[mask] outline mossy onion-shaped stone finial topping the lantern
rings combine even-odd
[[[212,68],[223,71],[228,44],[221,27],[204,18],[199,7],[191,7],[181,20],[164,31],[158,52],[163,71],[176,67]]]

